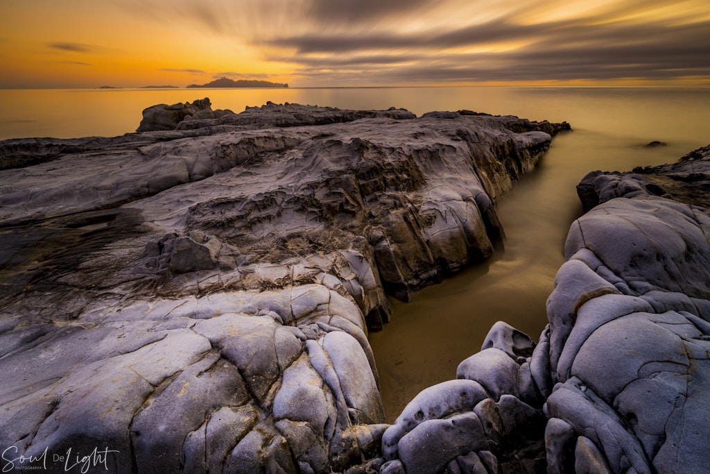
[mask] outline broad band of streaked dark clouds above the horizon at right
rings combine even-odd
[[[278,44],[296,49],[292,61],[313,80],[336,77],[337,72],[356,77],[358,70],[376,83],[664,80],[710,74],[710,21],[669,25],[593,20],[519,25],[512,18],[498,18],[444,33],[310,34]],[[518,45],[501,52],[456,53],[506,42]]]

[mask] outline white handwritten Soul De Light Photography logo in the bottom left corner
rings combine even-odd
[[[62,453],[52,453],[45,448],[39,454],[26,455],[17,446],[5,448],[1,454],[0,470],[3,473],[23,472],[26,470],[48,470],[64,473],[99,473],[109,470],[109,459],[119,451],[109,448],[94,448],[94,451],[81,453],[68,448]]]

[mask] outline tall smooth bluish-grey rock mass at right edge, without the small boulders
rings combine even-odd
[[[550,296],[558,384],[547,411],[574,432],[557,436],[567,448],[549,451],[553,465],[572,457],[577,472],[705,470],[710,217],[697,205],[707,203],[709,162],[705,147],[679,163],[591,173],[580,184],[602,204],[572,226],[561,273],[571,265],[606,284],[558,285]]]

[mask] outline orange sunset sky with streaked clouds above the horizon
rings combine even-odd
[[[0,0],[0,88],[710,84],[707,0]]]

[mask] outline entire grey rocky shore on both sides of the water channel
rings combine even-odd
[[[388,295],[490,256],[497,200],[566,129],[202,99],[0,141],[3,469],[701,472],[710,146],[589,173],[537,343],[496,323],[384,423]]]

